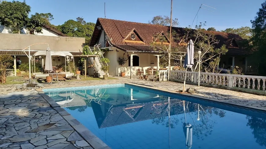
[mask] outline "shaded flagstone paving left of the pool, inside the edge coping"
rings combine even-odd
[[[92,149],[36,91],[0,96],[0,148]]]

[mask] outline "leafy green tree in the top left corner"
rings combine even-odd
[[[28,24],[31,7],[25,1],[2,1],[0,3],[0,23],[13,28],[20,34],[20,30]]]

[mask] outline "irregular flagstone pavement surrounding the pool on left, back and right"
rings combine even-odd
[[[69,81],[61,84],[53,83],[51,86],[45,84],[45,87],[131,83],[172,92],[183,88],[183,84],[169,81],[152,82],[140,79],[116,78],[118,79]],[[194,87],[199,91],[199,93],[193,95],[196,97],[266,110],[266,96],[186,85],[186,88],[188,87]],[[109,148],[89,130],[83,128],[84,126],[64,109],[51,106],[36,90],[21,91],[16,90],[16,85],[2,85],[0,86],[0,94],[0,148]],[[82,133],[86,133],[86,135],[82,135]]]

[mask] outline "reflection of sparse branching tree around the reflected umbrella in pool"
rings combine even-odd
[[[161,101],[168,102],[167,97],[160,97]],[[179,124],[179,121],[185,122],[185,118],[177,118],[178,115],[184,114],[183,108],[183,100],[170,100],[170,127],[175,128],[175,125]],[[198,108],[199,108],[199,118],[198,117]],[[193,120],[193,135],[197,137],[197,139],[203,140],[204,137],[211,135],[213,126],[216,124],[211,117],[214,115],[218,115],[220,118],[224,117],[226,112],[224,110],[220,110],[218,108],[213,107],[205,107],[198,104],[185,101],[185,112],[187,118],[190,117]],[[159,116],[158,116],[159,114]],[[161,112],[153,112],[151,117],[153,117],[152,123],[157,125],[161,124],[163,126],[168,127],[168,108],[164,108]]]

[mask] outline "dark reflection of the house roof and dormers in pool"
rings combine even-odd
[[[171,99],[170,105],[177,102],[183,103],[179,99]],[[105,102],[102,102],[102,105],[92,103],[92,109],[99,128],[165,117],[168,116],[167,108],[167,100],[142,101],[137,104],[123,105],[110,105]],[[194,111],[193,106],[190,106],[189,110]],[[171,108],[170,115],[182,114],[182,111],[183,105],[177,104],[174,109]]]

